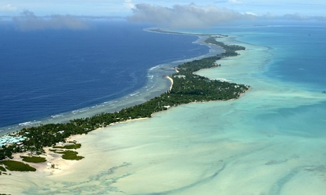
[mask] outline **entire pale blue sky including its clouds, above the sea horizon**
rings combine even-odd
[[[162,27],[203,27],[234,20],[287,18],[293,20],[321,20],[326,23],[325,0],[1,0],[1,18],[28,18],[33,23],[47,24],[40,17],[47,16],[52,24],[61,26],[76,22],[72,16],[127,18],[150,22]],[[65,21],[68,18],[68,22]],[[37,20],[35,20],[37,19]],[[27,26],[27,25],[26,25]],[[49,25],[50,26],[50,25]],[[74,24],[72,25],[74,26]],[[84,28],[77,24],[74,28]]]

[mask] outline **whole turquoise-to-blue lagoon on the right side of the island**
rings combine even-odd
[[[196,32],[247,48],[198,74],[251,85],[248,93],[77,136],[85,158],[72,167],[1,183],[32,194],[325,194],[325,27]]]

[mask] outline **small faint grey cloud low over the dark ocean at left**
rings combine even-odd
[[[14,17],[19,30],[72,29],[85,30],[87,25],[80,18],[70,15],[52,15],[47,18],[35,16],[31,11],[23,11],[21,17]]]

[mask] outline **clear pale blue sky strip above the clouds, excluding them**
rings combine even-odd
[[[18,16],[28,10],[38,16],[70,14],[76,16],[130,16],[137,4],[173,7],[176,4],[216,6],[240,13],[275,15],[300,13],[326,16],[325,0],[1,0],[0,16]]]

